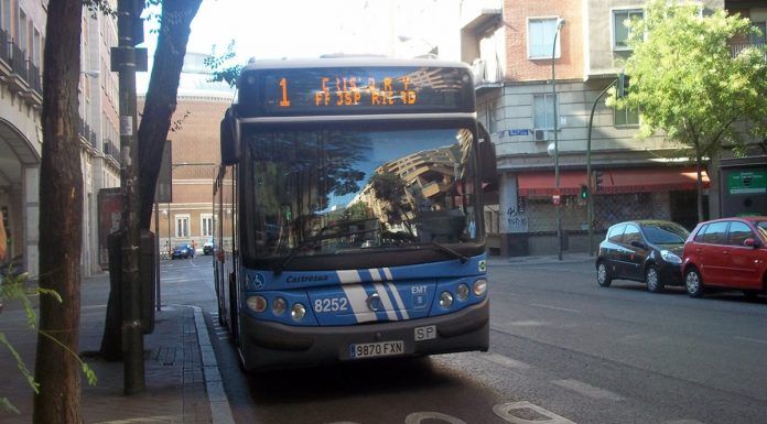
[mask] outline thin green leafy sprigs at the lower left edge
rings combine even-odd
[[[97,378],[96,373],[88,367],[87,363],[85,363],[77,352],[72,351],[68,349],[66,346],[62,345],[56,338],[53,336],[48,335],[45,331],[42,331],[40,329],[36,329],[37,327],[37,314],[34,312],[34,305],[32,304],[32,297],[39,296],[39,295],[46,295],[46,296],[52,296],[60,303],[62,302],[62,297],[58,295],[53,290],[46,290],[46,289],[40,289],[40,287],[33,287],[30,289],[26,286],[26,281],[29,280],[29,274],[28,273],[20,273],[17,274],[13,270],[13,264],[8,265],[8,269],[6,270],[7,274],[2,276],[2,280],[0,280],[0,313],[2,313],[2,305],[3,303],[8,301],[18,301],[21,303],[22,307],[24,308],[24,313],[26,315],[26,326],[31,330],[35,330],[37,334],[47,337],[48,339],[53,340],[55,344],[60,345],[62,348],[66,349],[72,356],[77,358],[77,360],[80,362],[82,369],[83,369],[83,374],[85,376],[86,380],[90,385],[96,385]],[[30,385],[30,388],[37,393],[40,391],[40,384],[34,381],[34,374],[26,368],[26,365],[24,363],[24,360],[22,359],[21,355],[19,355],[19,351],[15,350],[13,345],[8,340],[6,337],[6,334],[0,331],[0,345],[4,346],[6,349],[10,352],[11,357],[17,362],[17,368],[19,369],[19,372],[26,379],[26,383]],[[0,396],[0,410],[6,410],[6,411],[11,411],[19,413],[19,410],[17,410],[13,404],[8,400],[7,398],[1,398]]]

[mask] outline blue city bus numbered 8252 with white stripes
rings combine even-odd
[[[245,370],[488,349],[468,66],[251,61],[220,130],[215,287]]]

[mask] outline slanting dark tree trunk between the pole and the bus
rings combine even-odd
[[[186,55],[191,23],[202,0],[164,0],[154,65],[139,127],[139,193],[141,228],[149,230],[162,151],[176,108],[179,78]]]

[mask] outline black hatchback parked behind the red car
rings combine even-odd
[[[616,224],[599,243],[596,280],[607,287],[613,280],[641,281],[650,292],[682,285],[682,249],[690,232],[665,220]]]

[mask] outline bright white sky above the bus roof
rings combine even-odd
[[[333,53],[414,56],[441,43],[445,22],[434,19],[433,9],[457,10],[457,4],[458,0],[203,0],[187,51],[210,53],[215,45],[223,52],[234,40],[239,63]],[[153,35],[147,39],[151,54]]]

